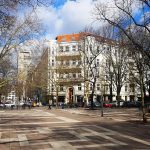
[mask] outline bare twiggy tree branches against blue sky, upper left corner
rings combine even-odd
[[[20,43],[40,33],[41,23],[35,15],[35,8],[51,4],[51,0],[5,0],[0,2],[0,60]],[[24,18],[18,17],[20,7],[31,7],[31,12]]]

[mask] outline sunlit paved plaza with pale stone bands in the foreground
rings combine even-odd
[[[148,125],[105,120],[68,111],[43,108],[1,110],[0,150],[150,149]]]

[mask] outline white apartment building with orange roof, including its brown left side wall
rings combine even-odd
[[[88,102],[91,95],[98,101],[102,96],[106,101],[117,99],[116,77],[113,75],[116,70],[112,70],[112,64],[109,64],[108,54],[114,63],[118,56],[129,63],[131,59],[124,47],[120,50],[115,41],[90,33],[58,35],[47,45],[39,63],[28,75],[33,90],[44,91],[47,100],[52,99],[54,103]],[[123,66],[123,62],[114,65]],[[139,89],[126,66],[121,70],[120,99],[136,100],[140,97]],[[28,91],[31,92],[31,88]]]

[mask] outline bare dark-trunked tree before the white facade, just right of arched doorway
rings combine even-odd
[[[90,30],[91,32],[91,30]],[[91,93],[87,95],[91,102],[91,109],[93,109],[93,98],[96,88],[97,79],[100,77],[100,59],[99,56],[102,54],[103,45],[105,39],[101,36],[98,36],[94,33],[83,32],[81,35],[81,49],[79,49],[81,55],[83,56],[83,68],[84,68],[84,82],[85,90],[89,87],[86,87],[90,84]],[[86,85],[87,84],[87,85]],[[87,94],[87,91],[85,91]]]

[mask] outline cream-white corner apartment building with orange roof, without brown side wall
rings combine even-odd
[[[90,33],[59,35],[50,41],[47,90],[51,98],[65,103],[87,102],[96,77],[94,100],[100,100],[102,95],[110,100],[111,77],[104,69],[108,64],[105,55],[110,49],[115,53],[119,50],[114,41]],[[126,79],[129,74],[125,75],[120,98],[135,100],[139,91]],[[116,100],[116,93],[116,88],[112,87],[112,100]]]

